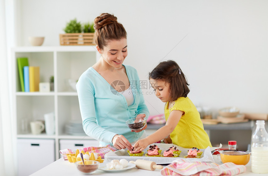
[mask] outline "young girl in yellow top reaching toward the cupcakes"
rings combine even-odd
[[[149,80],[157,98],[166,102],[166,124],[150,136],[137,141],[133,146],[135,150],[142,151],[165,137],[165,143],[173,143],[183,148],[212,147],[200,114],[187,97],[189,84],[179,65],[172,60],[161,62],[149,73]]]

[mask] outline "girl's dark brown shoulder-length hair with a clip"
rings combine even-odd
[[[175,101],[179,97],[187,97],[190,92],[186,77],[179,65],[172,60],[160,62],[149,73],[150,79],[166,81],[170,84],[170,101]]]

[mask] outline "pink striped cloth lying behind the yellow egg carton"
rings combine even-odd
[[[115,147],[111,147],[110,145],[107,145],[103,147],[85,147],[85,148],[80,148],[78,150],[79,152],[83,150],[85,153],[87,151],[89,153],[97,153],[98,156],[101,156],[101,158],[104,158],[104,155],[108,153],[109,151],[117,151],[118,149]],[[60,150],[60,155],[63,156],[64,160],[68,160],[66,155],[70,153],[76,153],[76,150],[71,150],[71,149]]]

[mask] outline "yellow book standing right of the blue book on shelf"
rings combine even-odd
[[[29,66],[29,87],[30,92],[39,91],[40,72],[39,67]]]

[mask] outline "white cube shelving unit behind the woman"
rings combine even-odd
[[[40,82],[49,82],[54,76],[53,92],[22,92],[17,69],[17,58],[27,57],[30,66],[40,67]],[[77,92],[68,79],[78,80],[79,76],[100,58],[95,46],[36,46],[12,49],[12,118],[17,139],[54,139],[55,160],[60,158],[60,140],[92,140],[89,136],[65,134],[65,124],[81,120]],[[44,120],[45,113],[55,113],[55,135],[32,135],[30,121]],[[28,121],[28,133],[22,132],[22,120]],[[82,122],[82,120],[81,120]],[[93,146],[92,145],[92,146]],[[81,147],[79,147],[81,148]]]

